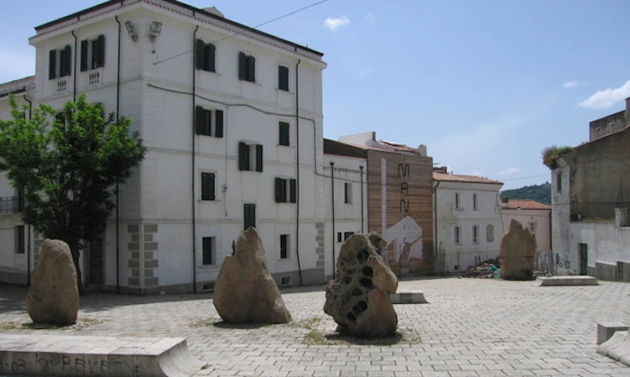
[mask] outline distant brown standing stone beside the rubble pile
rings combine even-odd
[[[501,240],[501,277],[506,280],[534,279],[536,238],[517,220],[509,223],[508,234]]]

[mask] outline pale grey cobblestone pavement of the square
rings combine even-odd
[[[324,287],[283,291],[293,322],[231,326],[211,294],[81,298],[76,326],[33,328],[22,287],[0,285],[0,330],[20,334],[186,337],[209,366],[195,376],[630,376],[597,354],[598,322],[630,322],[630,284],[540,287],[486,279],[403,281],[429,304],[396,305],[399,336],[335,334]]]

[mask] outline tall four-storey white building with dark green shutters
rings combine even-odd
[[[325,282],[320,52],[174,0],[112,0],[35,30],[27,97],[60,108],[86,94],[131,118],[148,148],[103,237],[86,240],[85,283],[211,289],[248,226],[278,283]],[[25,265],[5,242],[19,216],[0,216],[0,269],[27,274],[35,238]]]

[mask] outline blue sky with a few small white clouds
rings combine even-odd
[[[34,74],[35,26],[102,2],[3,1],[0,83]],[[627,0],[184,3],[322,52],[325,138],[425,145],[503,190],[550,181],[543,149],[588,141],[630,97]]]

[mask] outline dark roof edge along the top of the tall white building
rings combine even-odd
[[[110,1],[107,1],[107,2],[102,3],[102,4],[97,4],[97,5],[94,5],[94,6],[92,6],[92,7],[89,7],[89,8],[87,8],[87,9],[84,9],[83,11],[79,11],[79,12],[76,12],[76,13],[71,13],[71,14],[68,14],[68,15],[66,15],[66,16],[63,16],[63,17],[61,17],[61,18],[58,18],[57,20],[53,20],[53,21],[50,21],[50,22],[43,23],[43,24],[41,24],[41,25],[39,25],[39,26],[36,26],[36,27],[35,27],[35,31],[38,31],[38,32],[39,32],[39,31],[41,31],[41,30],[43,30],[43,29],[49,28],[50,26],[54,26],[54,25],[56,25],[56,24],[58,24],[58,23],[61,23],[61,22],[66,22],[66,21],[68,21],[68,20],[72,20],[73,18],[76,18],[76,19],[82,19],[82,18],[85,18],[85,17],[82,17],[82,16],[83,16],[83,15],[85,15],[85,14],[94,13],[95,11],[98,11],[98,10],[100,10],[100,9],[106,8],[106,7],[108,7],[108,6],[111,6],[112,4],[121,4],[121,6],[122,6],[122,4],[124,3],[124,1],[125,1],[125,0],[110,0]],[[147,0],[140,0],[140,1],[142,2],[142,1],[147,1]],[[277,40],[277,41],[280,41],[280,42],[282,42],[282,43],[289,44],[289,45],[291,45],[291,46],[293,46],[293,47],[296,47],[296,48],[300,48],[300,49],[304,49],[304,50],[310,51],[311,53],[316,54],[316,55],[319,55],[320,57],[322,57],[322,56],[324,55],[323,53],[321,53],[320,51],[317,51],[317,50],[315,50],[315,49],[310,49],[310,48],[308,48],[308,47],[306,47],[306,46],[302,46],[302,45],[297,44],[297,43],[294,43],[294,42],[292,42],[292,41],[290,41],[290,40],[284,40],[284,39],[282,39],[282,38],[280,38],[280,37],[276,37],[275,35],[268,34],[268,33],[266,33],[265,31],[259,31],[259,30],[257,30],[257,29],[254,29],[254,28],[249,27],[249,26],[247,26],[247,25],[244,25],[244,24],[242,24],[242,23],[234,22],[234,21],[232,21],[232,20],[229,20],[228,18],[221,17],[221,16],[220,16],[219,14],[217,14],[217,13],[212,13],[212,12],[209,12],[209,11],[204,10],[204,9],[202,9],[202,8],[197,8],[197,7],[194,7],[193,5],[184,4],[184,3],[181,3],[181,2],[176,1],[176,0],[161,0],[161,1],[166,2],[166,3],[169,3],[169,4],[174,4],[175,6],[178,6],[178,7],[180,7],[180,8],[185,9],[185,10],[188,10],[188,11],[192,11],[192,12],[193,12],[193,15],[194,15],[195,13],[200,13],[200,14],[203,14],[203,15],[205,15],[205,16],[211,17],[211,18],[213,18],[213,19],[220,20],[220,21],[222,21],[222,22],[227,22],[227,23],[229,23],[229,24],[231,24],[231,25],[233,25],[233,26],[236,26],[236,27],[238,27],[238,28],[242,28],[242,29],[245,29],[245,30],[247,30],[247,31],[254,32],[254,33],[256,33],[256,34],[258,34],[258,35],[261,35],[261,36],[263,36],[263,37],[270,38],[270,39],[272,39],[272,40]],[[150,2],[149,2],[149,3],[150,3]]]

